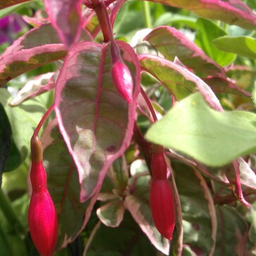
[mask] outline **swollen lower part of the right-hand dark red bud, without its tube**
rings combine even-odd
[[[173,192],[168,179],[155,180],[150,188],[150,207],[154,225],[159,233],[171,240],[175,226]]]

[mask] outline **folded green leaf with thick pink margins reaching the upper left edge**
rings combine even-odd
[[[92,37],[84,30],[83,40]],[[0,86],[9,80],[51,61],[63,59],[66,47],[60,44],[59,37],[51,24],[41,25],[25,33],[0,56]]]

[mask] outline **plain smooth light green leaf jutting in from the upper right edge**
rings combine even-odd
[[[252,37],[219,37],[212,44],[222,51],[256,59],[256,39]]]

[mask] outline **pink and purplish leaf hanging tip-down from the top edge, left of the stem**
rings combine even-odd
[[[71,47],[78,42],[82,29],[83,0],[44,0],[46,11],[61,42]]]

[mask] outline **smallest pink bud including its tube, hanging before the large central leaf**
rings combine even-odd
[[[112,58],[111,75],[116,90],[127,102],[133,102],[133,78],[128,67],[123,63],[116,42],[111,42],[110,51]]]

